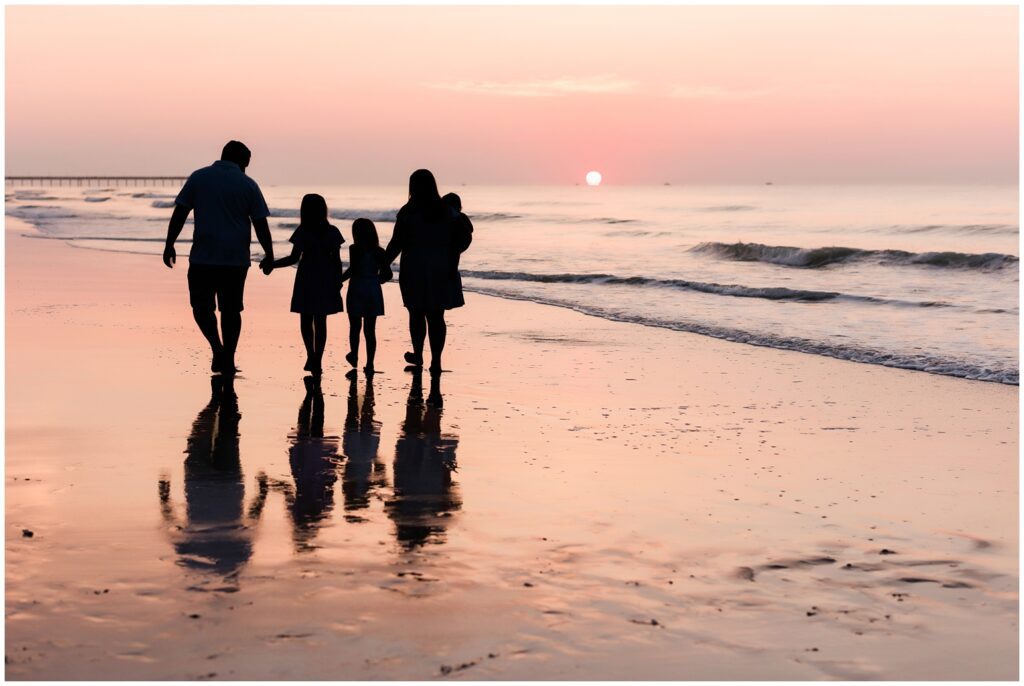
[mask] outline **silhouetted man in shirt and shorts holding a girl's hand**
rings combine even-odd
[[[188,300],[196,324],[210,343],[211,371],[226,375],[238,372],[234,349],[242,333],[242,294],[249,271],[253,227],[265,254],[260,266],[273,261],[270,227],[266,223],[270,212],[259,185],[245,173],[251,158],[248,147],[231,140],[224,145],[219,161],[193,172],[174,200],[164,248],[164,264],[173,268],[177,259],[174,241],[188,213],[195,210]],[[214,298],[220,310],[219,333]]]

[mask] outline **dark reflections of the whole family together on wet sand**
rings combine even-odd
[[[306,377],[298,421],[288,437],[292,481],[258,473],[256,492],[248,506],[234,380],[230,375],[214,375],[210,381],[211,397],[193,422],[186,441],[184,503],[179,505],[172,498],[169,475],[161,476],[159,483],[161,514],[177,563],[202,578],[194,581],[197,586],[193,588],[238,589],[272,492],[284,496],[295,552],[316,550],[317,534],[329,524],[335,507],[339,470],[346,521],[368,521],[371,502],[379,500],[402,550],[445,542],[452,516],[462,508],[453,479],[459,436],[442,432],[441,408],[424,402],[421,370],[412,374],[406,419],[394,447],[390,491],[380,455],[381,423],[374,412],[374,375],[367,375],[361,402],[357,380],[350,377],[340,442],[336,436],[325,435],[324,391]],[[431,375],[431,395],[439,395],[439,384],[440,377]]]

